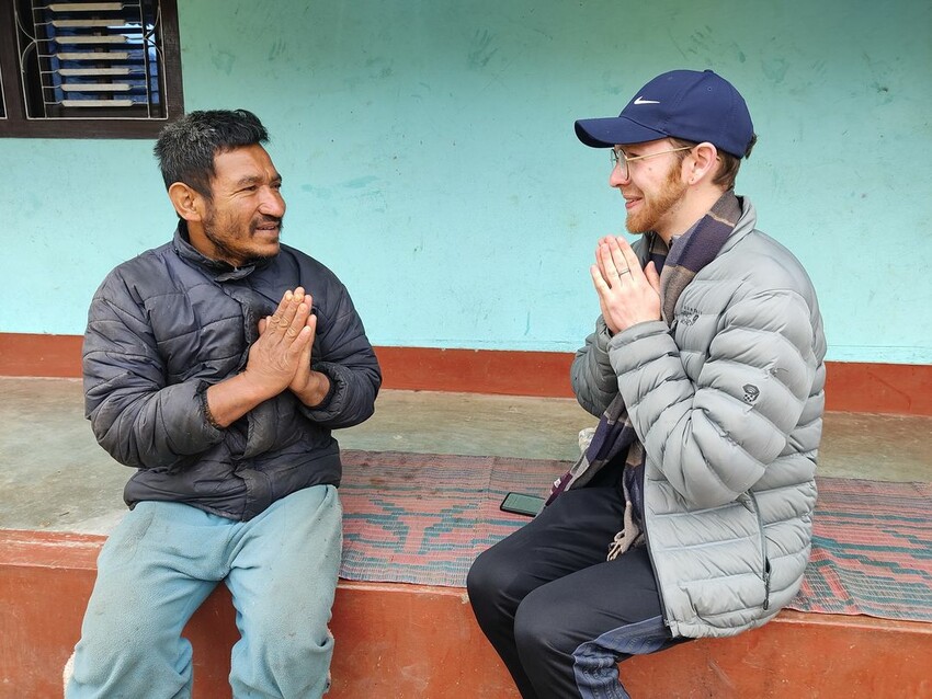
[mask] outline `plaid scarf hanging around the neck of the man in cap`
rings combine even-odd
[[[740,216],[741,204],[729,190],[708,214],[673,240],[669,251],[659,236],[652,236],[648,261],[660,271],[661,317],[668,325],[673,321],[680,294],[700,270],[715,260]],[[549,505],[564,491],[586,485],[601,469],[622,457],[625,459],[624,528],[609,547],[609,560],[644,542],[644,445],[637,438],[621,392],[602,414],[589,446],[572,468],[554,482],[547,499]]]

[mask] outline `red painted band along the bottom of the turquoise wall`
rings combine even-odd
[[[571,398],[572,354],[376,347],[385,388]],[[0,333],[0,376],[81,376],[81,336]],[[932,366],[830,362],[827,409],[932,415]]]

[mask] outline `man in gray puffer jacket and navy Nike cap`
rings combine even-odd
[[[474,563],[476,617],[522,697],[627,697],[617,662],[759,627],[809,557],[826,342],[799,262],[734,193],[757,139],[707,70],[576,123],[612,156],[634,248],[599,241],[577,353],[601,415],[544,511]]]

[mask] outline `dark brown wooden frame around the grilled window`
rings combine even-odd
[[[184,114],[181,41],[177,0],[160,0],[167,114],[160,118],[36,118],[26,116],[20,59],[16,55],[16,0],[0,0],[0,89],[3,113],[0,138],[155,138],[169,122]]]

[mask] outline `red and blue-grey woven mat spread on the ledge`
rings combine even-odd
[[[345,580],[462,587],[565,461],[343,451]],[[792,609],[932,621],[932,484],[818,479],[812,555]]]

